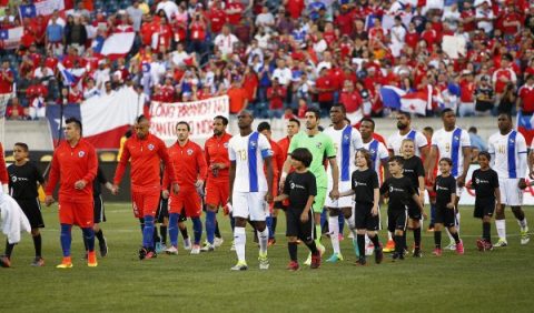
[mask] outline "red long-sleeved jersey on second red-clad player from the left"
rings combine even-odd
[[[131,158],[131,160],[130,160]],[[164,161],[165,171],[172,183],[177,182],[175,169],[170,162],[167,147],[161,139],[148,134],[145,139],[132,135],[125,142],[120,155],[113,183],[119,184],[125,174],[128,161],[131,163],[131,191],[146,192],[160,190],[160,163]]]

